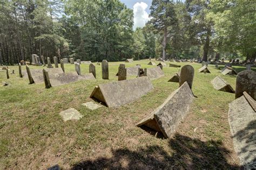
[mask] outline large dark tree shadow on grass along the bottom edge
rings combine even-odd
[[[72,169],[239,169],[237,165],[228,164],[230,157],[224,147],[217,141],[201,141],[181,134],[169,139],[170,155],[163,148],[154,145],[139,148],[137,151],[127,148],[112,150],[111,158],[84,160]]]

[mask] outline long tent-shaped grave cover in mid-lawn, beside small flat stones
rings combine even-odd
[[[99,84],[92,91],[91,98],[103,102],[110,108],[133,102],[146,95],[153,89],[153,85],[148,77],[138,77],[131,80],[123,80]]]

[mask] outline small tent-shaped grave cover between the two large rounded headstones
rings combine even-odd
[[[219,90],[219,91],[226,91],[229,93],[235,93],[234,89],[228,84],[224,79],[221,79],[221,77],[216,76],[212,81],[211,81],[214,89]]]

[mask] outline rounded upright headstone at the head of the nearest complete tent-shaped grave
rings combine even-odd
[[[184,82],[188,83],[188,86],[192,89],[194,79],[194,68],[191,65],[185,65],[181,67],[180,77],[179,77],[179,86],[182,86]]]

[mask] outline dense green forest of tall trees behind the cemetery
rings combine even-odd
[[[255,60],[255,1],[153,0],[151,20],[133,30],[119,0],[0,2],[0,65],[31,54],[82,60],[146,58]]]

